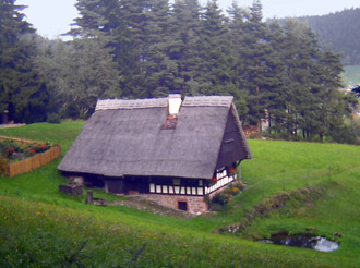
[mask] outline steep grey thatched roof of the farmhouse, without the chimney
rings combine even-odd
[[[167,98],[99,100],[58,169],[106,176],[211,179],[230,110],[245,158],[251,158],[232,97],[185,97],[175,129],[161,127],[167,103]]]

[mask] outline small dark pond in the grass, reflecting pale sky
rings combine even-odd
[[[334,252],[339,248],[338,243],[323,236],[314,236],[312,234],[288,234],[275,233],[269,240],[261,240],[260,242],[275,245],[297,246],[311,248],[319,252]]]

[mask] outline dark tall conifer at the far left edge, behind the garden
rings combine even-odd
[[[46,119],[48,93],[34,71],[35,29],[24,21],[24,8],[0,1],[0,111],[31,123]]]

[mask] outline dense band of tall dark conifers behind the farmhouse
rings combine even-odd
[[[262,3],[77,0],[70,41],[49,40],[25,7],[0,0],[0,111],[14,122],[87,119],[97,99],[231,95],[244,125],[353,142],[356,99],[338,90],[341,56],[304,22],[265,22]]]

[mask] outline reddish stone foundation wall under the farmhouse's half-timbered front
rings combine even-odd
[[[187,211],[193,215],[200,215],[208,211],[208,205],[204,196],[187,196],[187,195],[157,195],[157,194],[142,194],[142,197],[156,202],[164,207],[179,209],[180,206],[187,206]]]

